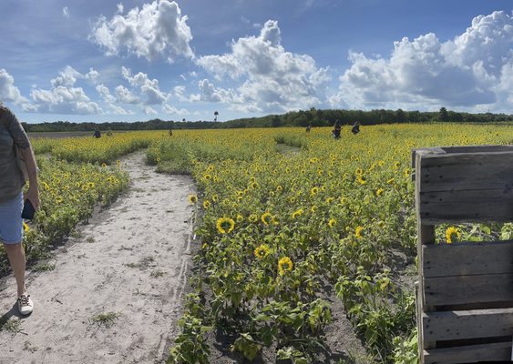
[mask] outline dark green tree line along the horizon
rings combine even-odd
[[[216,112],[217,113],[217,112]],[[216,115],[216,119],[219,113]],[[513,115],[481,113],[471,114],[446,110],[439,111],[404,111],[375,109],[341,110],[316,109],[291,111],[282,115],[238,118],[225,122],[219,121],[181,121],[151,119],[136,122],[110,123],[72,123],[69,121],[44,122],[39,124],[22,123],[26,132],[59,132],[59,131],[94,131],[100,130],[169,130],[169,129],[215,129],[234,127],[281,127],[281,126],[333,126],[336,120],[343,125],[352,125],[359,121],[362,125],[396,124],[396,123],[498,123],[513,121]]]

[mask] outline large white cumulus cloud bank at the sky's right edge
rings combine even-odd
[[[465,33],[440,42],[435,34],[395,42],[389,58],[351,51],[352,66],[340,77],[332,106],[451,106],[500,109],[509,96],[513,18],[479,15]]]

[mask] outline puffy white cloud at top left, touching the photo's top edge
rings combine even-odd
[[[177,57],[193,57],[192,35],[187,15],[181,15],[174,1],[156,0],[135,7],[123,15],[123,5],[111,19],[101,16],[93,26],[89,39],[105,50],[108,56],[122,52],[145,57],[148,61],[160,58],[172,63]]]

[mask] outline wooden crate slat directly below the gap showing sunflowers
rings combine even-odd
[[[424,278],[513,273],[513,240],[423,246]]]

